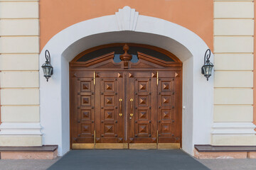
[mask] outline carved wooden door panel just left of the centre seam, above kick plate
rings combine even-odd
[[[124,115],[121,115],[123,101],[119,101],[124,98],[122,74],[122,72],[97,72],[95,75],[95,116],[97,117],[95,142],[97,143],[124,142]]]

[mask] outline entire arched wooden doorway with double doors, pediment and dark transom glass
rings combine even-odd
[[[182,62],[159,47],[116,43],[70,62],[71,149],[179,149]]]

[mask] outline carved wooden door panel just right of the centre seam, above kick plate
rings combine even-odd
[[[129,142],[151,143],[156,142],[157,113],[156,77],[151,72],[129,72],[128,100],[133,98],[134,108],[129,107],[129,113],[134,113],[129,123]],[[133,110],[133,111],[132,111]],[[129,115],[128,115],[129,116]]]

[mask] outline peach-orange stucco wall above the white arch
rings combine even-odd
[[[80,21],[112,15],[130,6],[144,16],[162,18],[192,30],[213,49],[213,0],[43,0],[41,50],[61,30]]]

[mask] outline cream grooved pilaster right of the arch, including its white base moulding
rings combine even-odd
[[[212,145],[255,145],[254,2],[214,1],[215,98]]]

